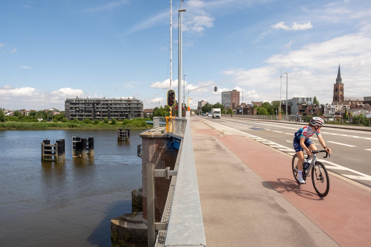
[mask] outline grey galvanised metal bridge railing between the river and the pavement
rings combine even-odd
[[[201,213],[200,195],[194,163],[190,119],[173,118],[171,136],[181,136],[174,171],[169,168],[154,170],[147,164],[147,214],[148,246],[153,246],[154,232],[158,230],[156,247],[198,246],[206,247],[206,237]],[[154,177],[171,176],[171,186],[161,222],[154,222]]]

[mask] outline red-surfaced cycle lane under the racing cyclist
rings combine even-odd
[[[304,185],[299,185],[295,181],[291,156],[244,136],[217,136],[217,138],[339,245],[369,245],[371,242],[369,188],[330,173],[329,194],[322,198],[316,194],[311,177],[307,178]]]

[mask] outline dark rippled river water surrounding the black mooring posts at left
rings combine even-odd
[[[110,220],[142,185],[141,132],[0,131],[0,246],[111,246]],[[72,136],[94,137],[94,157],[72,158]],[[43,139],[65,139],[65,161],[41,162]]]

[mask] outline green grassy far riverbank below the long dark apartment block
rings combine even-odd
[[[126,125],[121,122],[116,124],[111,123],[98,123],[98,124],[86,124],[86,123],[62,123],[62,122],[0,122],[0,129],[5,130],[41,130],[41,129],[149,129],[152,125],[143,123],[144,121],[135,121]]]

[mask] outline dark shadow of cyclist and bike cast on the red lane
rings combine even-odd
[[[264,181],[262,182],[262,185],[266,188],[274,189],[278,193],[283,192],[293,192],[297,195],[300,195],[301,197],[305,197],[311,200],[324,200],[324,198],[320,197],[316,193],[313,193],[311,191],[305,190],[305,186],[311,186],[307,182],[307,184],[298,184],[296,181],[289,180],[286,178],[279,178],[277,181]]]

